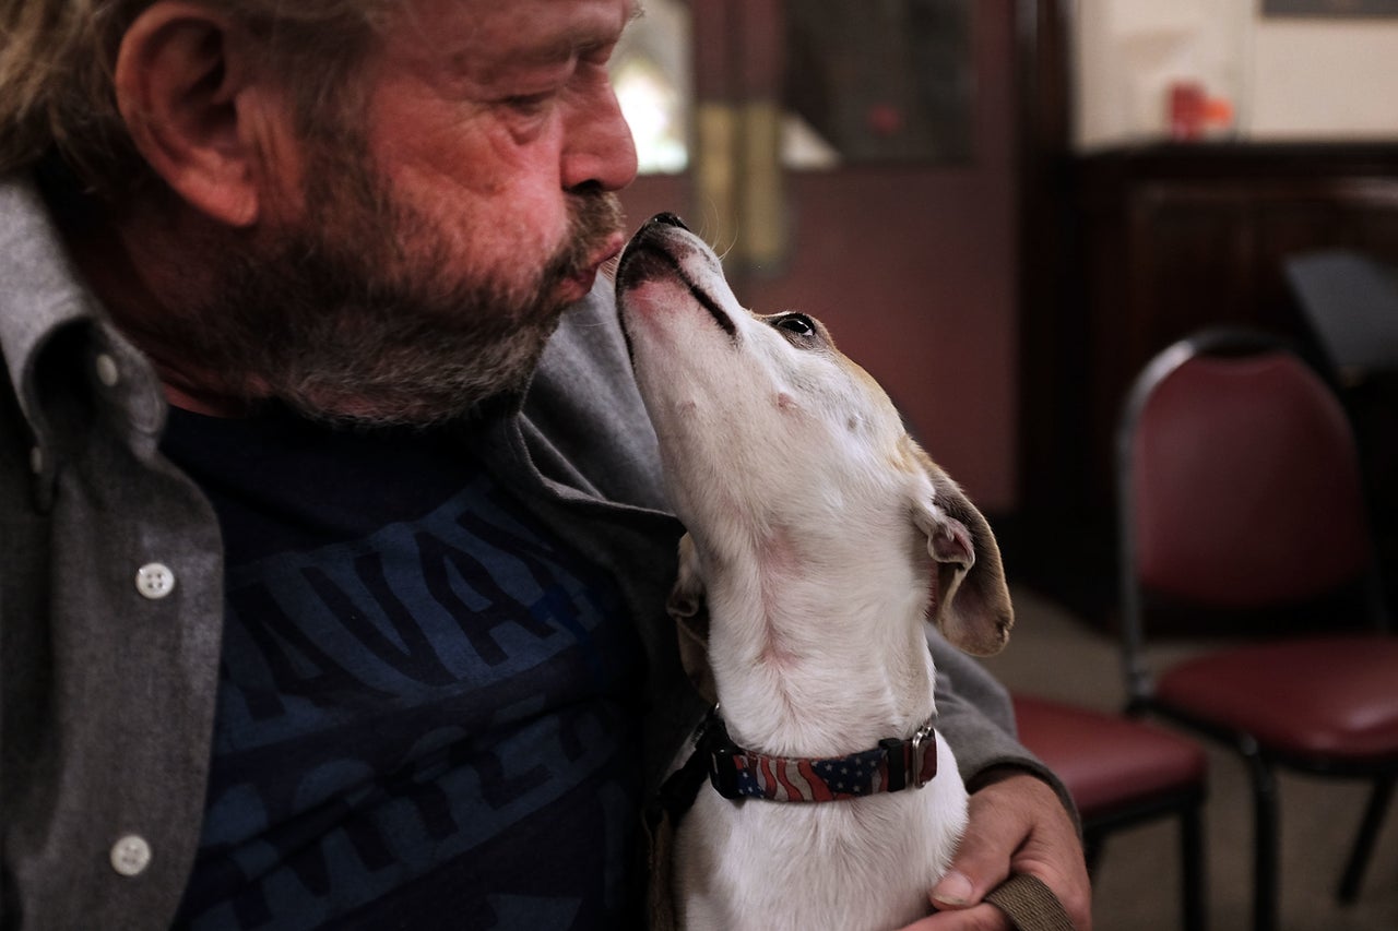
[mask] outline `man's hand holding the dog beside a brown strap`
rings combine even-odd
[[[905,931],[1012,931],[983,902],[1012,872],[1042,879],[1078,931],[1092,928],[1092,888],[1082,844],[1058,795],[1037,776],[1014,772],[970,797],[970,818],[946,875],[931,892],[941,911]]]

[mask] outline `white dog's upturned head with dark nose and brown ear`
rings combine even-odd
[[[937,568],[946,637],[976,654],[1004,646],[1012,612],[990,526],[818,320],[745,310],[719,257],[668,214],[632,238],[617,295],[671,500],[706,556],[898,535]]]

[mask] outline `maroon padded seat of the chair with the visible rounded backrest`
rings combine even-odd
[[[1398,758],[1398,637],[1307,637],[1187,660],[1160,677],[1156,699],[1278,752]]]

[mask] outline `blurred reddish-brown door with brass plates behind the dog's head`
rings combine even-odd
[[[1012,0],[843,0],[858,14],[826,20],[850,41],[823,46],[793,38],[794,0],[679,6],[688,158],[624,193],[630,222],[675,211],[748,306],[821,317],[977,503],[1012,510]],[[913,20],[923,34],[899,38]]]

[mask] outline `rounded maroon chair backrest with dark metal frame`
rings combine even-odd
[[[1215,330],[1160,352],[1128,397],[1117,453],[1134,698],[1149,688],[1142,594],[1264,618],[1373,573],[1349,419],[1271,337]]]

